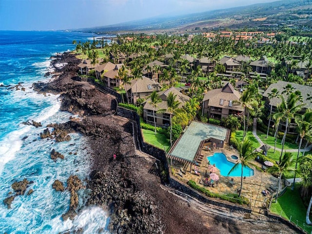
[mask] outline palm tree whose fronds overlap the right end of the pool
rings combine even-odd
[[[243,170],[244,170],[244,167],[246,167],[246,166],[254,167],[257,170],[261,170],[258,166],[254,165],[251,162],[252,160],[254,160],[254,154],[253,154],[252,147],[253,147],[253,144],[248,139],[248,137],[246,137],[240,144],[238,144],[238,147],[237,147],[237,150],[239,152],[238,157],[239,157],[241,163],[237,162],[228,174],[228,176],[229,176],[231,174],[231,172],[236,170],[239,167],[239,164],[241,164],[241,167],[242,167],[241,170],[242,171],[241,171],[241,176],[240,176],[240,190],[239,190],[239,194],[238,194],[239,197],[241,195],[242,188],[243,188]]]

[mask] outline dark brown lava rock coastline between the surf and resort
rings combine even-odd
[[[244,221],[244,214],[237,214],[240,218],[236,219],[217,215],[170,192],[161,184],[159,163],[136,154],[132,122],[113,116],[116,99],[90,83],[77,81],[79,61],[70,53],[57,55],[51,63],[55,68],[54,79],[34,83],[33,88],[44,95],[60,94],[61,110],[79,115],[50,127],[53,126],[55,133],[62,133],[61,140],[72,131],[88,138],[93,167],[86,181],[86,188],[91,191],[86,205],[98,205],[109,212],[111,233],[259,233],[261,227],[268,232],[289,231],[285,225],[270,224],[264,219]],[[65,65],[59,68],[58,64]],[[45,133],[53,137],[50,132]],[[71,205],[63,219],[77,214],[77,191],[84,187],[81,178],[69,175],[69,179],[73,180],[67,181],[66,188],[71,192]],[[53,186],[58,191],[65,190],[60,181],[55,181]]]

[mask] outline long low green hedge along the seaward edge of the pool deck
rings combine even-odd
[[[195,189],[196,191],[201,192],[209,197],[220,198],[222,200],[230,201],[230,202],[237,203],[240,205],[250,204],[250,201],[244,196],[239,197],[238,194],[216,194],[216,193],[210,192],[208,189],[198,186],[194,180],[189,180],[187,184],[191,188]]]

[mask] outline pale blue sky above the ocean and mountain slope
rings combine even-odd
[[[65,30],[274,0],[0,0],[0,30]]]

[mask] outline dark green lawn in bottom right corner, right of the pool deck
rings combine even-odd
[[[299,187],[300,185],[297,184],[293,191],[291,187],[288,187],[285,194],[278,197],[276,203],[272,203],[271,212],[281,215],[288,220],[292,217],[291,221],[295,224],[297,224],[298,220],[298,226],[310,234],[312,232],[312,226],[308,226],[305,223],[307,208],[301,200]]]

